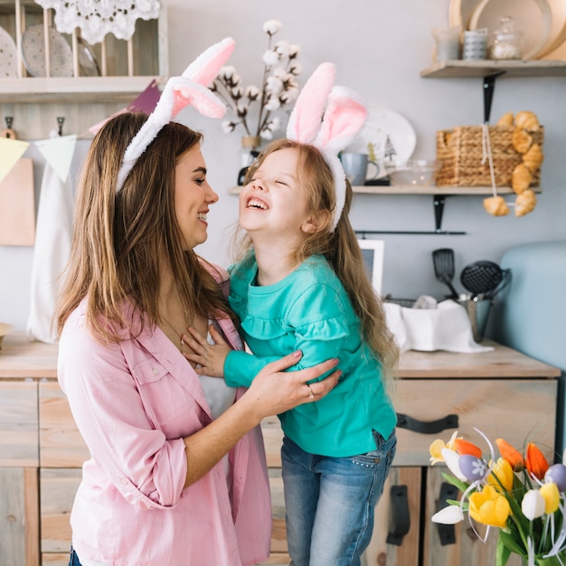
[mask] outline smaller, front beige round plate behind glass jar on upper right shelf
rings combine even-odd
[[[552,11],[547,0],[481,0],[469,28],[486,27],[494,33],[505,16],[511,16],[515,30],[523,33],[523,59],[536,59],[551,35]]]

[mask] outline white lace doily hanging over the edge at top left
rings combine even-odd
[[[43,8],[55,10],[55,27],[60,33],[80,35],[90,44],[99,43],[107,33],[128,40],[136,29],[136,20],[155,20],[159,0],[35,0]]]

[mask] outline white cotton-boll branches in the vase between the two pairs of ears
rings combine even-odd
[[[281,29],[277,20],[263,24],[263,31],[268,35],[268,49],[263,53],[263,80],[261,87],[250,85],[244,89],[241,76],[234,67],[222,67],[210,89],[218,94],[236,119],[222,123],[224,131],[233,132],[241,125],[246,135],[271,139],[273,133],[281,127],[277,110],[284,108],[297,99],[299,92],[297,76],[302,71],[297,61],[298,45],[280,40],[272,44],[273,36]],[[250,108],[258,107],[257,125],[250,124]]]

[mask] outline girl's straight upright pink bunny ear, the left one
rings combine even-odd
[[[287,137],[301,144],[311,144],[320,129],[328,94],[335,81],[332,63],[320,64],[305,83],[295,102],[287,127]]]

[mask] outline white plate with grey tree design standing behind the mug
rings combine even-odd
[[[376,178],[380,178],[387,175],[382,167],[383,162],[406,161],[412,156],[416,145],[417,135],[407,118],[391,108],[370,104],[363,130],[348,151],[371,156],[370,147],[373,147],[375,160],[380,165]]]

